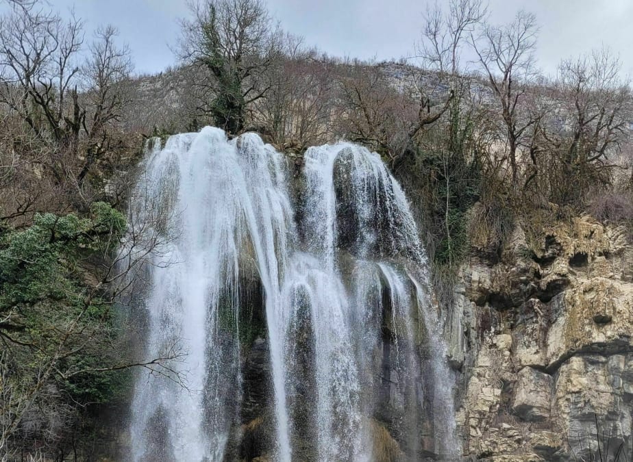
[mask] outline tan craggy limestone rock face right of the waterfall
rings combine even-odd
[[[633,250],[623,229],[584,216],[551,227],[536,248],[518,229],[496,261],[462,268],[454,299],[447,339],[463,373],[465,457],[633,451]]]

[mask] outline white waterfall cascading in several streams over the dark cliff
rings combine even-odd
[[[182,347],[169,368],[186,387],[138,378],[134,461],[249,460],[255,428],[279,461],[456,458],[451,377],[404,193],[360,146],[313,147],[303,161],[290,179],[258,136],[210,127],[149,153],[130,204],[166,248],[147,268],[147,355]],[[253,418],[245,358],[262,341],[255,387],[270,396]]]

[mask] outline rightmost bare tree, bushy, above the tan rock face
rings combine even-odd
[[[540,189],[560,205],[582,205],[588,191],[604,188],[627,161],[621,157],[633,115],[628,81],[617,57],[601,49],[562,61],[549,98]]]

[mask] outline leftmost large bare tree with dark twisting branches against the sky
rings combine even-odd
[[[78,107],[82,42],[77,18],[64,22],[32,8],[0,18],[0,107],[8,114],[3,156],[15,161],[0,183],[8,199],[1,204],[5,218],[28,218],[53,205],[64,209],[62,198],[71,197],[80,131],[79,111],[71,107]]]

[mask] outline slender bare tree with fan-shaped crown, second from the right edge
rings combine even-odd
[[[512,185],[517,184],[517,148],[534,118],[523,110],[525,93],[534,77],[536,17],[520,11],[511,24],[502,27],[486,25],[473,47],[495,99],[500,105],[501,120],[508,140],[508,157]]]

